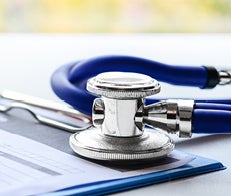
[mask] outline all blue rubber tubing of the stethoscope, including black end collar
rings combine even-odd
[[[57,96],[78,111],[91,115],[96,96],[86,90],[87,80],[102,72],[137,72],[173,85],[213,88],[219,83],[218,72],[206,66],[178,66],[131,57],[101,56],[69,63],[59,67],[51,77],[51,86]],[[160,101],[153,97],[146,103]],[[195,100],[193,133],[231,133],[231,99]]]

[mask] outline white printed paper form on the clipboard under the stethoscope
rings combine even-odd
[[[32,195],[95,181],[179,167],[193,157],[179,152],[169,162],[144,169],[115,169],[66,154],[0,130],[0,195]]]

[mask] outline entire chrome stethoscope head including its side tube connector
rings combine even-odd
[[[135,73],[108,72],[88,80],[87,89],[98,95],[93,104],[97,128],[70,137],[81,156],[99,160],[157,159],[174,148],[168,133],[191,137],[192,100],[166,100],[144,104],[144,97],[160,91],[154,79]],[[155,130],[145,129],[145,125]]]

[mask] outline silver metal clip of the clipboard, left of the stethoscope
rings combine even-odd
[[[0,112],[23,109],[28,111],[39,123],[65,130],[70,133],[86,130],[92,126],[90,117],[81,114],[77,110],[74,110],[71,107],[61,103],[56,103],[54,101],[49,101],[9,90],[4,90],[0,94],[0,97],[2,99],[10,100],[10,102],[6,102],[5,104],[1,103]],[[39,110],[37,110],[37,108],[39,108]],[[40,111],[42,110],[40,109],[44,109],[46,111],[45,113],[47,113],[47,111],[52,111],[57,114],[69,116],[70,118],[78,119],[86,126],[79,127],[59,121],[57,119],[52,119],[51,117],[45,116],[43,113],[41,113]]]

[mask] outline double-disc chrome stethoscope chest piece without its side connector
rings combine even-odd
[[[94,127],[70,137],[77,154],[105,161],[149,160],[173,150],[168,135],[149,130],[142,122],[144,97],[160,91],[156,80],[137,73],[107,72],[89,79],[87,90],[101,98],[93,103]]]

